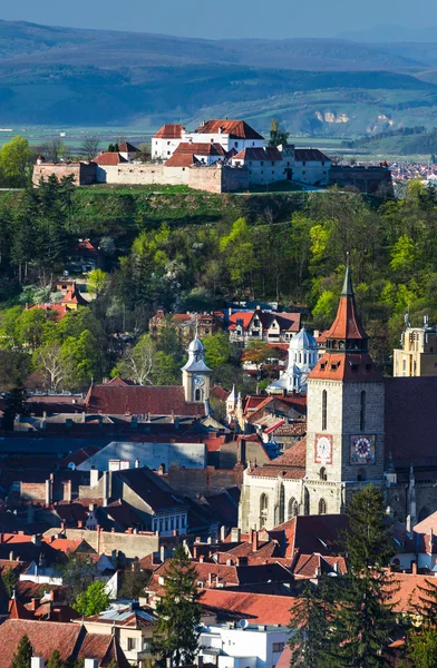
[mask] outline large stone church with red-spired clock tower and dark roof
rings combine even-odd
[[[305,439],[244,472],[244,532],[297,514],[342,513],[370,482],[397,520],[415,523],[437,510],[437,377],[382,376],[368,352],[349,267],[326,337],[307,379]]]

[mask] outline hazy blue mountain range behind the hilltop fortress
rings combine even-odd
[[[149,130],[224,116],[261,131],[276,117],[320,136],[437,126],[437,42],[214,41],[0,21],[0,127]]]

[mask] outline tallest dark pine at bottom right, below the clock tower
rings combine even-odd
[[[387,569],[392,539],[381,492],[372,485],[356,492],[347,515],[343,548],[348,573],[336,581],[338,605],[333,608],[337,666],[388,666],[390,633],[396,625],[389,601],[396,586]]]

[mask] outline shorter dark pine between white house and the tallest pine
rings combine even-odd
[[[314,586],[305,581],[299,602],[291,609],[291,665],[299,668],[336,668],[332,656],[332,597],[330,579],[323,577]]]

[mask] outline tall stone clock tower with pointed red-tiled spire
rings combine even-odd
[[[368,353],[349,265],[324,355],[308,376],[304,512],[342,512],[383,481],[383,380]]]

